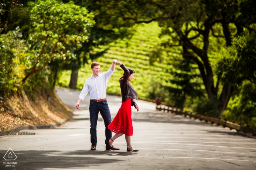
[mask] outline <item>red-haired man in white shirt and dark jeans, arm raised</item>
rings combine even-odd
[[[90,122],[91,122],[91,150],[96,150],[97,146],[97,121],[99,112],[104,120],[105,124],[105,135],[106,139],[112,137],[112,132],[108,129],[108,125],[111,122],[110,110],[106,100],[107,95],[107,82],[110,76],[114,73],[116,68],[117,60],[113,60],[112,66],[108,71],[99,73],[101,71],[101,66],[98,62],[93,62],[91,64],[91,71],[93,74],[85,81],[83,89],[78,97],[78,102],[76,103],[76,108],[80,110],[80,102],[90,91]],[[105,141],[106,143],[106,141]],[[113,147],[114,150],[119,150]],[[108,144],[106,143],[106,150],[110,150]]]

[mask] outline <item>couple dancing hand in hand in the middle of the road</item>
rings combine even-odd
[[[108,79],[116,69],[116,64],[120,65],[120,67],[124,70],[123,76],[119,79],[122,94],[122,104],[115,118],[111,122],[110,110],[106,99],[106,87]],[[78,97],[78,102],[76,103],[76,108],[80,110],[80,102],[90,91],[89,111],[91,122],[91,150],[96,150],[97,146],[96,127],[98,114],[100,112],[106,128],[106,150],[119,150],[113,146],[113,142],[115,139],[124,134],[127,143],[127,151],[138,151],[133,149],[131,146],[131,136],[133,134],[131,106],[134,106],[137,109],[137,112],[139,111],[138,105],[133,100],[138,100],[138,95],[129,83],[129,81],[132,81],[135,72],[131,68],[125,67],[124,64],[117,62],[117,60],[113,60],[112,66],[109,68],[109,70],[101,74],[99,74],[101,66],[98,62],[93,62],[91,64],[91,70],[93,71],[93,74],[85,81],[83,89]],[[116,133],[113,137],[111,131]]]

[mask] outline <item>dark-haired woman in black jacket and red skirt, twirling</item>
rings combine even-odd
[[[137,109],[137,112],[139,111],[138,105],[133,100],[138,100],[138,94],[129,83],[129,81],[132,81],[135,72],[131,68],[125,67],[125,65],[120,62],[116,62],[116,64],[120,65],[120,67],[124,70],[123,76],[119,79],[122,94],[122,104],[115,118],[108,126],[108,129],[116,134],[112,138],[107,139],[106,142],[108,143],[109,148],[114,150],[112,143],[115,139],[124,134],[127,143],[127,151],[136,152],[138,150],[133,149],[131,146],[131,136],[133,134],[131,106],[134,106]]]

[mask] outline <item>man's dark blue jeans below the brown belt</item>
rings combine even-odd
[[[106,139],[112,137],[112,132],[108,129],[108,125],[111,123],[112,120],[111,120],[111,115],[110,115],[110,110],[109,110],[107,100],[103,102],[94,102],[90,100],[89,111],[90,111],[90,122],[91,122],[91,129],[90,129],[91,146],[93,145],[97,146],[97,130],[96,129],[97,129],[99,112],[101,113],[101,116],[104,120]],[[106,143],[106,146],[108,146],[107,143]]]

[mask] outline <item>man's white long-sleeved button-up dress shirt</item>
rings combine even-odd
[[[96,78],[93,74],[85,81],[83,89],[79,95],[79,99],[84,99],[84,97],[90,91],[90,99],[100,100],[107,96],[107,83],[108,79],[114,73],[111,67],[108,71],[100,73]]]

